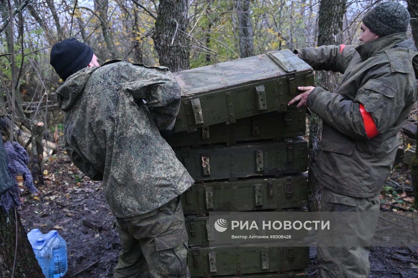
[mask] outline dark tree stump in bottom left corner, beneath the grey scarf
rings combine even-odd
[[[25,228],[20,222],[18,214],[17,216],[18,251],[13,278],[45,278],[38,264],[38,260],[35,258]],[[6,214],[3,209],[0,209],[0,277],[12,276],[15,244],[16,220],[14,210],[10,209],[10,214]]]

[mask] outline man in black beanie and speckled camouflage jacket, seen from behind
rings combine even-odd
[[[66,80],[57,90],[66,150],[87,176],[103,180],[117,217],[115,277],[189,277],[178,196],[194,180],[160,135],[174,125],[180,87],[166,67],[118,59],[98,66],[90,49],[62,41],[51,64]]]

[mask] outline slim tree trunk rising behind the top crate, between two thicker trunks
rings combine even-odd
[[[253,30],[250,14],[250,0],[238,1],[238,36],[240,37],[240,56],[254,56]]]

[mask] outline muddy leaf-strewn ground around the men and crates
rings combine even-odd
[[[46,184],[37,186],[42,196],[22,192],[24,204],[19,212],[27,232],[58,230],[68,244],[69,273],[66,277],[112,277],[120,251],[114,229],[115,217],[110,212],[100,182],[93,182],[73,166],[68,157],[50,158],[45,163]],[[404,166],[391,176],[393,184],[408,185],[410,176]],[[400,187],[400,186],[398,186]],[[382,199],[399,207],[411,208],[412,194],[397,189],[382,191]],[[394,209],[382,206],[382,209]],[[396,208],[395,208],[396,209]],[[309,277],[316,278],[316,250],[311,248]],[[417,278],[418,248],[373,248],[370,253],[372,278]]]

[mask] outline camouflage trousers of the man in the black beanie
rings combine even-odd
[[[189,278],[180,197],[146,214],[116,219],[122,251],[115,278]]]

